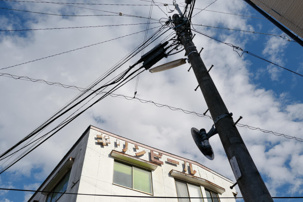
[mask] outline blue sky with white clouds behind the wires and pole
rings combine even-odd
[[[148,37],[159,29],[158,26],[161,26],[160,18],[160,21],[165,22],[168,16],[176,13],[176,11],[168,13],[169,9],[173,10],[173,6],[164,6],[164,3],[172,4],[170,1],[159,1],[159,3],[155,3],[158,6],[152,7],[151,2],[141,0],[66,0],[64,2],[98,4],[126,4],[127,2],[131,5],[62,5],[38,3],[38,1],[0,1],[0,30],[2,30],[0,31],[0,75],[4,74],[0,77],[1,154],[79,93],[77,89],[63,88],[60,84],[48,85],[42,80],[40,80],[41,82],[31,82],[25,78],[25,80],[13,79],[5,74],[86,88],[142,44],[149,13],[151,13],[151,18],[156,20],[151,20],[153,23],[149,24]],[[212,2],[214,1],[197,1],[195,8],[203,9]],[[183,9],[181,7],[184,5],[183,1],[177,1],[177,3]],[[201,10],[195,10],[193,15],[199,11]],[[119,12],[122,12],[121,16],[116,14]],[[126,14],[137,17],[129,17]],[[217,0],[206,10],[195,15],[192,18],[192,24],[200,32],[303,74],[302,47],[296,42],[274,36],[284,36],[285,34],[271,22],[262,18],[264,17],[242,0]],[[69,28],[88,26],[99,27]],[[66,29],[3,31],[45,28]],[[172,29],[165,32],[147,46],[144,53],[173,33]],[[228,110],[233,113],[234,121],[242,116],[240,124],[303,139],[301,129],[303,126],[301,93],[303,78],[301,76],[245,53],[239,57],[232,47],[194,31],[193,34],[196,34],[193,41],[197,49],[204,48],[201,58],[206,67],[214,65],[210,75]],[[135,64],[142,54],[139,52],[109,78],[114,78],[130,65]],[[40,58],[45,59],[37,60]],[[179,58],[185,58],[184,51],[168,56],[156,65]],[[114,93],[134,97],[134,92],[137,91],[136,98],[168,105],[173,107],[172,109],[181,108],[203,114],[207,110],[207,106],[201,91],[199,89],[194,91],[198,83],[193,71],[187,71],[189,67],[190,65],[187,63],[159,73],[151,74],[144,71],[138,79],[135,77]],[[107,81],[102,81],[98,87]],[[106,88],[105,91],[108,89]],[[92,101],[100,97],[101,95],[97,95]],[[59,118],[37,137],[52,130],[67,116]],[[108,96],[88,108],[45,143],[0,174],[0,187],[37,189],[89,125],[197,161],[235,182],[218,135],[210,138],[215,153],[213,161],[204,157],[192,140],[191,127],[205,128],[208,131],[212,124],[211,119],[197,116],[194,113],[186,114],[181,110],[171,110],[166,106],[157,107],[151,102],[142,103],[138,99],[127,100],[123,96]],[[303,142],[259,130],[251,130],[247,127],[238,127],[238,130],[271,196],[303,196],[301,169],[303,167]],[[18,154],[6,162],[4,162],[6,159],[0,161],[2,164],[0,168],[2,169],[3,166],[14,160]],[[236,186],[236,190],[239,192],[238,196],[241,196],[238,186]],[[0,191],[0,202],[27,201],[31,195],[32,193],[28,192]],[[277,199],[275,201],[295,202],[299,200]]]

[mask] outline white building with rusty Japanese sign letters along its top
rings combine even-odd
[[[42,192],[35,192],[28,201],[234,202],[233,198],[223,198],[234,197],[232,184],[228,178],[195,161],[89,126],[38,188]]]

